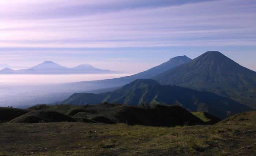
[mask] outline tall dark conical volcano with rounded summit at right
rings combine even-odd
[[[208,51],[154,79],[162,85],[211,91],[251,107],[256,103],[256,72],[218,51]]]

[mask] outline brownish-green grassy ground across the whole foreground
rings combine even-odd
[[[256,113],[207,126],[0,124],[3,155],[256,155]]]

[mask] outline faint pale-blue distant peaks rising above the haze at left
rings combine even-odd
[[[46,61],[39,65],[30,67],[28,69],[12,70],[10,68],[4,68],[0,70],[0,74],[85,74],[85,73],[117,73],[116,71],[97,69],[91,65],[83,64],[74,68],[67,68],[57,63]]]

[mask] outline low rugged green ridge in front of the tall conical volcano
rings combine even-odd
[[[193,112],[209,112],[221,118],[240,111],[252,110],[248,106],[214,93],[178,86],[160,85],[159,82],[153,79],[137,79],[116,91],[108,93],[75,93],[62,103],[83,105],[99,104],[101,102],[126,105],[180,105]]]

